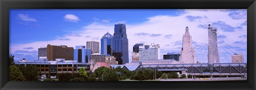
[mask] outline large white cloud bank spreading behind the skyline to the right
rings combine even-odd
[[[132,46],[135,43],[156,43],[160,44],[161,47],[161,58],[167,52],[177,52],[181,50],[182,36],[185,34],[185,28],[188,26],[189,33],[192,37],[192,40],[196,42],[196,46],[194,48],[198,49],[196,53],[198,54],[197,59],[201,62],[207,62],[207,47],[204,47],[204,44],[207,44],[207,29],[199,28],[198,25],[206,25],[212,24],[214,22],[223,21],[225,24],[230,25],[231,27],[242,26],[242,29],[234,29],[234,32],[223,32],[221,27],[216,27],[218,29],[218,34],[225,34],[226,38],[221,40],[225,41],[226,44],[235,45],[237,43],[228,43],[235,42],[230,41],[229,39],[236,41],[247,41],[246,38],[239,38],[241,35],[247,34],[247,26],[241,25],[244,23],[246,19],[231,19],[229,16],[229,12],[221,12],[220,10],[185,10],[186,13],[180,16],[169,16],[169,15],[157,15],[148,17],[148,20],[145,22],[137,23],[137,24],[126,24],[126,33],[127,38],[129,40],[129,51],[132,51]],[[197,19],[196,21],[189,22],[186,16],[207,16],[207,18]],[[100,21],[96,17],[94,20]],[[119,22],[117,22],[119,23]],[[74,32],[73,34],[79,34],[79,36],[83,37],[74,37],[74,35],[66,34],[63,37],[58,37],[66,40],[52,40],[48,41],[48,43],[53,45],[65,44],[68,47],[75,47],[78,45],[86,45],[86,41],[99,41],[103,34],[109,32],[110,34],[114,34],[114,22],[111,23],[100,23],[100,22],[92,22],[90,25],[83,26],[83,30],[79,32]],[[124,23],[124,22],[122,22]],[[213,25],[212,25],[213,26]],[[221,26],[221,25],[218,25]],[[134,35],[140,33],[141,35]],[[147,34],[148,33],[148,34]],[[143,35],[142,34],[146,34]],[[159,34],[158,37],[150,37],[150,34]],[[170,38],[166,38],[165,36],[169,36]],[[46,46],[46,41],[38,41],[27,44],[19,44],[19,45],[11,45],[10,51],[13,53],[16,50],[22,50],[24,47],[34,47],[33,50],[37,50],[37,48],[42,47],[43,44]],[[169,44],[168,46],[166,46]],[[202,44],[202,46],[201,46]],[[200,48],[200,46],[202,48]],[[246,44],[244,46],[246,47]],[[203,49],[203,50],[200,50]],[[219,48],[221,49],[221,48]],[[230,48],[233,49],[233,48]],[[30,49],[29,49],[30,50]],[[233,49],[236,50],[236,49]],[[204,52],[206,51],[206,52]],[[229,50],[230,51],[230,50]],[[203,53],[204,52],[204,53]],[[247,53],[246,51],[237,51],[238,53]],[[202,54],[203,53],[203,54]],[[219,50],[219,53],[226,53],[225,50]],[[231,53],[231,52],[230,52]],[[200,55],[201,54],[201,55]],[[231,53],[232,54],[232,53]],[[246,55],[246,54],[244,54]],[[203,59],[202,59],[203,58]],[[247,59],[244,56],[245,60]],[[131,61],[131,53],[129,53],[129,59]],[[231,62],[231,56],[227,54],[220,54],[220,62]]]

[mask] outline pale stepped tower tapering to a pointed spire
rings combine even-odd
[[[180,62],[183,64],[196,64],[196,53],[192,46],[192,37],[189,34],[188,26],[182,38]]]

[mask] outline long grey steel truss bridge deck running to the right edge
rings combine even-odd
[[[176,71],[186,72],[193,76],[247,76],[246,63],[221,63],[221,64],[150,64],[141,65],[147,69],[156,69],[168,73]]]

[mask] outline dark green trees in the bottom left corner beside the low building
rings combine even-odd
[[[14,56],[9,57],[9,80],[11,81],[33,81],[38,80],[38,69],[35,65],[15,65]]]

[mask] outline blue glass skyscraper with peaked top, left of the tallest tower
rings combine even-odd
[[[106,33],[100,40],[100,53],[101,55],[110,55],[112,56],[112,44],[113,44],[113,35]]]

